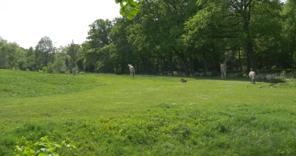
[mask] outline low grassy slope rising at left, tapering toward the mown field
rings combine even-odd
[[[96,78],[0,70],[0,98],[55,96],[75,93],[99,85],[102,83]]]

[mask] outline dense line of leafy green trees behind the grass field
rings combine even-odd
[[[117,2],[124,2],[118,0]],[[296,0],[141,0],[122,5],[121,18],[95,20],[81,45],[35,48],[0,39],[0,68],[65,72],[186,75],[228,69],[249,72],[296,66]],[[130,11],[130,12],[129,12]],[[136,12],[136,13],[134,13]],[[131,20],[128,20],[131,19]]]

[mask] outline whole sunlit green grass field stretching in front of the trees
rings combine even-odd
[[[0,70],[0,156],[21,137],[61,156],[296,156],[296,81]],[[259,88],[262,86],[262,88]]]

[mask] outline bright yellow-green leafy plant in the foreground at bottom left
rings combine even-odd
[[[15,146],[15,156],[59,156],[56,154],[58,148],[70,151],[76,149],[76,146],[69,144],[70,139],[62,141],[61,144],[50,141],[47,136],[41,137],[40,141],[34,144],[25,137],[21,137],[21,139],[24,141],[24,145]]]

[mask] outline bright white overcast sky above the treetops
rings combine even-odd
[[[54,46],[86,40],[97,19],[120,17],[115,0],[0,0],[0,36],[23,48],[48,36]]]

